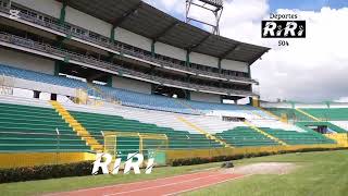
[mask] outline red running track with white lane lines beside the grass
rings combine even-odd
[[[119,196],[119,195],[177,195],[183,192],[198,189],[222,182],[239,179],[244,175],[223,173],[221,171],[198,172],[192,174],[176,175],[171,177],[117,184],[111,186],[79,189],[50,194],[54,196]]]

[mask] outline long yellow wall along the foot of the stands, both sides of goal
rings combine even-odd
[[[266,146],[244,148],[211,148],[211,149],[159,149],[165,152],[166,163],[175,159],[185,158],[212,158],[219,156],[246,155],[258,152],[278,152],[308,148],[338,148],[343,145],[297,145],[297,146]],[[90,152],[8,152],[0,154],[0,168],[34,167],[44,164],[62,164],[79,161],[96,160],[96,155]]]

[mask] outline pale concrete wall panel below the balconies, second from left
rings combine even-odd
[[[151,94],[151,84],[120,76],[112,76],[112,87]]]

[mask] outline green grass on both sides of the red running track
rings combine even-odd
[[[270,161],[294,162],[299,167],[289,174],[252,175],[186,195],[348,195],[348,150],[278,155],[243,159],[234,163],[241,166]],[[21,196],[72,191],[184,174],[220,164],[156,168],[150,175],[96,175],[0,184],[0,194]]]

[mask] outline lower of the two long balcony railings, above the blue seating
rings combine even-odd
[[[188,87],[188,88],[194,88],[196,90],[211,90],[211,91],[216,91],[216,93],[223,93],[223,94],[231,94],[231,95],[243,95],[243,96],[253,96],[254,94],[252,94],[251,91],[246,91],[246,90],[233,90],[233,89],[227,89],[227,88],[219,88],[219,87],[212,87],[212,86],[204,86],[204,85],[198,85],[198,84],[190,84],[190,83],[186,83],[186,82],[181,82],[181,81],[174,81],[174,79],[167,79],[164,77],[160,77],[160,76],[153,76],[153,75],[148,75],[141,72],[137,72],[130,69],[125,69],[122,68],[117,64],[114,63],[110,63],[107,61],[101,61],[98,59],[95,59],[92,57],[88,57],[88,56],[83,56],[79,53],[75,53],[75,52],[71,52],[69,50],[65,49],[61,49],[58,47],[53,47],[51,45],[48,44],[44,44],[44,42],[37,42],[30,39],[26,39],[20,36],[15,36],[15,35],[11,35],[11,34],[7,34],[7,33],[0,33],[0,40],[1,41],[5,41],[9,44],[13,44],[16,46],[21,46],[21,47],[25,47],[25,48],[29,48],[36,51],[41,51],[45,53],[49,53],[49,54],[53,54],[53,56],[58,56],[61,57],[63,59],[70,59],[73,61],[77,61],[77,62],[83,62],[83,63],[87,63],[87,64],[91,64],[98,68],[102,68],[105,70],[110,70],[110,71],[114,71],[117,73],[127,73],[129,75],[134,75],[134,76],[138,76],[145,79],[149,79],[149,81],[153,81],[153,82],[160,82],[162,84],[170,84],[170,85],[176,85],[176,86],[183,86],[183,87]]]

